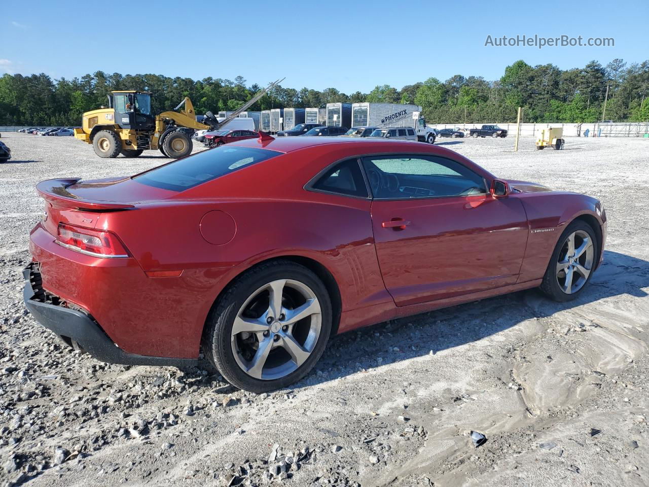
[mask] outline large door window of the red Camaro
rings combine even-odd
[[[439,156],[393,155],[363,158],[375,199],[408,199],[485,194],[484,179],[459,162]]]

